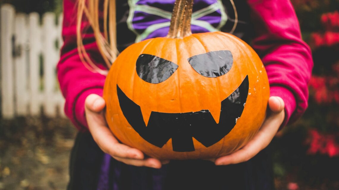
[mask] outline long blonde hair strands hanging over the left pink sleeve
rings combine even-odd
[[[116,48],[116,4],[115,0],[103,0],[103,34],[100,31],[99,24],[99,3],[100,0],[78,0],[77,12],[77,44],[80,59],[83,64],[93,72],[99,72],[107,75],[107,70],[99,68],[88,56],[84,44],[82,42],[81,23],[86,18],[93,29],[94,36],[100,54],[102,55],[108,68],[117,57],[118,50]],[[108,26],[108,28],[107,28]]]

